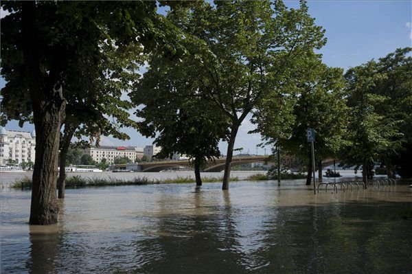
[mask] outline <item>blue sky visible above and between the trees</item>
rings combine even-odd
[[[290,8],[297,8],[299,1],[285,1]],[[371,59],[378,59],[400,47],[412,47],[412,0],[402,1],[308,1],[309,13],[315,23],[325,29],[328,43],[319,51],[323,62],[330,67],[348,69]],[[1,11],[1,16],[4,16]],[[0,80],[1,87],[4,85]],[[9,122],[7,130],[32,131],[34,126],[25,124],[19,128],[17,122]],[[249,135],[254,126],[245,120],[240,127],[235,148],[244,148],[243,153],[259,155],[269,153],[270,147],[258,148],[261,137]],[[136,130],[126,129],[130,140],[120,141],[102,137],[101,145],[139,146],[152,144]],[[227,144],[220,142],[220,152],[226,154]]]

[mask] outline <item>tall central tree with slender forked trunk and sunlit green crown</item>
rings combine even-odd
[[[225,178],[229,179],[240,124],[262,98],[282,93],[285,80],[290,78],[289,68],[299,65],[298,60],[307,52],[325,43],[323,30],[314,25],[303,1],[298,9],[288,9],[282,1],[273,5],[269,1],[216,1],[214,5],[199,1],[191,8],[172,9],[168,19],[183,32],[185,49],[176,51],[172,62],[163,53],[151,58],[143,81],[152,83],[146,86],[152,89],[152,102],[167,98],[164,100],[169,104],[169,95],[176,95],[202,111],[207,111],[205,106],[209,104],[213,106],[213,115],[221,117],[227,129]],[[132,97],[138,98],[141,91],[137,89]],[[135,102],[145,104],[139,99]],[[144,105],[137,116],[144,117],[150,107],[155,109],[156,105]],[[172,110],[176,108],[161,114],[165,116],[164,124],[176,116]],[[215,119],[210,120],[214,124]],[[157,131],[157,119],[144,122],[148,125],[146,135]],[[221,130],[214,133],[217,139]],[[225,180],[224,188],[227,183]]]

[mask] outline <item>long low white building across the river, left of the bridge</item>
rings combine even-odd
[[[106,159],[107,163],[114,163],[116,158],[128,157],[131,161],[143,157],[143,148],[135,146],[99,146],[94,148],[85,148],[84,154],[90,155],[94,161],[100,163]]]

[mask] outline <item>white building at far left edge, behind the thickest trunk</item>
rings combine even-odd
[[[36,155],[36,133],[5,130],[0,126],[0,163],[3,165],[9,159],[16,163],[33,162]]]

